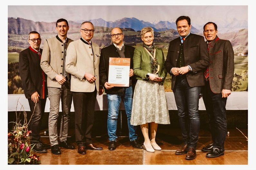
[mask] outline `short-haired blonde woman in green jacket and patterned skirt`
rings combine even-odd
[[[161,150],[156,144],[157,125],[170,124],[165,89],[165,58],[161,48],[153,44],[154,30],[145,27],[141,30],[142,47],[137,47],[133,55],[133,72],[137,84],[134,90],[131,121],[140,125],[144,136],[143,148],[149,152]],[[150,139],[148,137],[150,123]]]

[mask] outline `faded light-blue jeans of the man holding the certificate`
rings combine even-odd
[[[132,111],[132,86],[124,88],[123,94],[107,94],[109,114],[108,114],[108,134],[109,141],[117,141],[117,118],[121,99],[124,103],[125,112],[127,115],[127,123],[129,129],[129,139],[133,141],[137,139],[135,134],[136,126],[131,125],[131,111]]]

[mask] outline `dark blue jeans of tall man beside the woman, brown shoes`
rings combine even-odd
[[[186,76],[177,76],[173,89],[184,144],[196,148],[200,119],[198,114],[201,87],[190,87]]]

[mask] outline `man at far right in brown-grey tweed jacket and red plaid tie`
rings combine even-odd
[[[224,155],[227,133],[226,102],[231,94],[234,74],[234,51],[229,40],[217,36],[217,25],[207,22],[204,37],[209,53],[209,67],[204,72],[205,86],[202,88],[204,105],[209,116],[213,144],[202,149],[206,157]]]

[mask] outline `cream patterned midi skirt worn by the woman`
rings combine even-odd
[[[133,95],[130,123],[135,126],[150,122],[170,124],[164,85],[157,81],[138,80]]]

